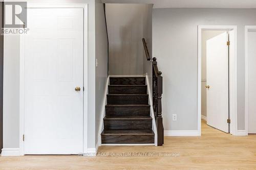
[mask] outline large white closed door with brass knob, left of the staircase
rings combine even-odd
[[[82,153],[83,9],[28,9],[28,28],[24,152]]]

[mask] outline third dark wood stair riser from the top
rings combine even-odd
[[[148,104],[148,94],[107,94],[108,104]]]

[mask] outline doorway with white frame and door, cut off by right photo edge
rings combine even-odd
[[[245,129],[256,134],[256,26],[245,27]]]

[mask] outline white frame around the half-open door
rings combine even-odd
[[[229,58],[229,116],[230,134],[238,135],[237,128],[237,26],[198,26],[198,132],[201,135],[201,67],[202,67],[202,30],[234,30],[233,57]]]

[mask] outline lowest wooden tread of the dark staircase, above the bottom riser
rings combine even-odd
[[[101,135],[155,135],[153,130],[103,130]]]

